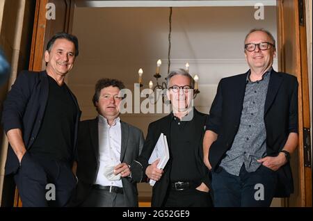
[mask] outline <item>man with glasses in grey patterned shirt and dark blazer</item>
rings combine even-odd
[[[270,206],[294,186],[289,164],[298,145],[298,82],[272,68],[273,35],[245,39],[250,70],[221,79],[204,136],[215,206]]]

